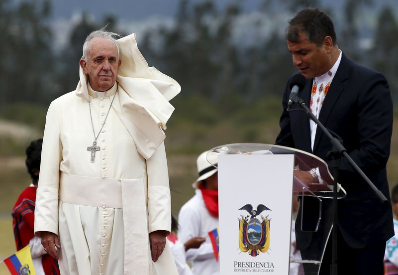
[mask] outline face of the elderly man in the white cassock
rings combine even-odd
[[[91,87],[101,92],[112,88],[120,63],[115,43],[103,37],[91,39],[88,45],[87,62],[84,59],[80,60],[84,73],[89,76]]]

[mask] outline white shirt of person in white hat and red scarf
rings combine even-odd
[[[186,252],[187,260],[192,262],[195,275],[219,275],[220,265],[215,260],[208,232],[218,227],[218,218],[208,212],[199,189],[195,196],[181,207],[178,216],[178,239],[184,244],[194,237],[206,238],[198,249]]]

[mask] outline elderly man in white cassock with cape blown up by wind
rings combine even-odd
[[[163,129],[181,87],[114,35],[87,37],[76,90],[48,109],[35,235],[61,274],[177,275]]]

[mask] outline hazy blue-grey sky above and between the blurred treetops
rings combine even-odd
[[[204,0],[188,1],[192,4],[203,2]],[[345,0],[333,0],[332,4],[330,0],[321,1],[323,1],[322,7],[333,9],[333,14],[331,15],[338,29]],[[267,35],[271,31],[269,26],[274,24],[285,26],[288,19],[292,16],[283,8],[278,9],[279,0],[271,1],[273,5],[277,6],[275,10],[278,10],[278,12],[268,16],[268,18],[264,18],[264,15],[258,12],[258,7],[264,0],[213,0],[213,3],[221,10],[231,2],[238,2],[243,7],[243,12],[239,15],[234,26],[234,36],[240,37],[240,41],[242,41],[242,35],[247,36],[245,38],[247,42],[253,40],[253,35],[250,32],[251,28],[248,26],[252,26],[256,20],[268,22],[268,24],[264,24],[267,27],[262,30],[262,34]],[[373,0],[373,2],[375,6],[368,8],[367,12],[362,13],[363,16],[360,18],[360,24],[366,30],[372,28],[369,25],[374,26],[377,14],[375,11],[384,4],[389,3],[398,12],[398,0]],[[137,40],[139,41],[140,34],[147,29],[159,25],[172,25],[180,0],[51,0],[51,3],[51,25],[55,34],[54,46],[57,49],[65,45],[71,26],[78,21],[83,11],[91,14],[92,19],[97,22],[106,14],[118,15],[118,27],[126,33],[136,32]],[[281,28],[281,30],[283,32],[284,28]]]

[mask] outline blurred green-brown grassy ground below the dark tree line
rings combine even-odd
[[[172,211],[177,216],[180,207],[194,195],[191,183],[197,178],[196,158],[199,153],[227,143],[274,143],[279,131],[281,107],[279,99],[269,98],[240,106],[234,115],[223,118],[220,108],[205,98],[186,100],[177,97],[172,100],[172,104],[176,110],[168,123],[165,143],[172,189]],[[18,118],[0,112],[0,259],[15,252],[10,212],[20,192],[30,183],[24,164],[24,150],[30,140],[42,137],[46,112],[44,107],[27,104],[12,108]],[[397,125],[388,162],[390,187],[398,183],[396,167]]]

